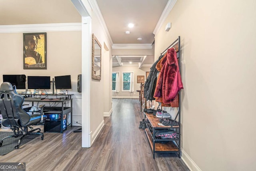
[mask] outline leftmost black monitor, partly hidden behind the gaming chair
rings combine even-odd
[[[26,89],[26,76],[22,75],[3,75],[3,82],[9,82],[16,89]]]

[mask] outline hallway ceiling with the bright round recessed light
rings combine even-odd
[[[152,44],[168,0],[96,0],[114,44]],[[134,27],[129,28],[128,24]],[[130,34],[125,34],[130,31]],[[142,38],[141,41],[137,38]]]

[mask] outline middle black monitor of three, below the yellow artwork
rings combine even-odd
[[[28,76],[28,89],[51,89],[50,76]]]

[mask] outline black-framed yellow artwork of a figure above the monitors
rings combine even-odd
[[[23,33],[23,69],[46,70],[46,33]]]

